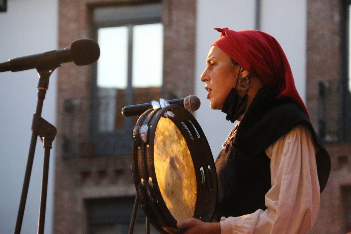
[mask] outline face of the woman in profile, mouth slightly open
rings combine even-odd
[[[207,55],[206,69],[200,77],[200,80],[206,83],[205,89],[211,109],[221,110],[229,92],[236,86],[237,78],[232,68],[230,56],[219,47],[212,46]]]

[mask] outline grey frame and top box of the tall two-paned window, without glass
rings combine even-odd
[[[112,7],[102,7],[105,9],[118,9],[118,8],[123,8],[123,7],[154,7],[154,11],[158,11],[158,15],[156,16],[153,14],[150,9],[148,10],[149,15],[144,15],[143,17],[139,17],[136,19],[126,19],[126,18],[116,18],[116,19],[104,19],[104,15],[102,15],[102,18],[98,20],[94,20],[94,11],[95,10],[100,10],[101,8],[93,8],[93,19],[92,19],[92,36],[93,39],[97,40],[98,39],[98,29],[99,28],[104,28],[104,27],[119,27],[119,26],[127,26],[128,28],[128,55],[127,55],[127,87],[125,89],[125,105],[132,105],[134,103],[133,100],[133,87],[132,87],[132,59],[133,59],[133,27],[135,25],[144,25],[144,24],[155,24],[155,23],[162,23],[161,15],[161,2],[160,1],[153,1],[153,2],[148,2],[145,4],[132,4],[132,5],[121,5],[121,6],[112,6]],[[140,9],[139,9],[140,10]],[[110,14],[111,15],[111,14]],[[128,17],[127,17],[128,18]],[[130,146],[131,143],[131,138],[129,139],[127,136],[130,135],[131,129],[133,127],[133,118],[125,118],[124,123],[125,126],[123,129],[114,129],[111,132],[100,132],[99,131],[99,125],[98,125],[98,103],[97,101],[94,100],[99,100],[98,99],[98,86],[97,86],[97,63],[94,64],[92,67],[92,79],[91,79],[91,114],[90,114],[90,134],[89,137],[92,142],[96,142],[95,145],[95,150],[97,150],[97,155],[95,156],[112,156],[113,153],[110,152],[108,149],[104,151],[101,154],[101,150],[99,149],[99,144],[104,143],[106,145],[110,145],[110,143],[105,142],[106,141],[111,141],[111,139],[114,138],[125,138],[124,142],[122,142],[122,145],[126,145],[127,147]],[[129,135],[128,135],[129,134]],[[101,148],[101,147],[100,147]],[[113,156],[122,156],[122,155],[129,155],[130,154],[130,148],[121,148],[118,153],[116,153]]]

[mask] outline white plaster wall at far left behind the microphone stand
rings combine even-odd
[[[9,0],[0,12],[0,62],[57,49],[57,0]],[[69,45],[68,45],[69,46]],[[0,233],[14,233],[33,113],[37,105],[35,69],[0,73]],[[56,72],[51,75],[42,117],[55,125]],[[38,140],[21,233],[37,233],[42,143]],[[53,146],[55,147],[55,145]],[[52,233],[53,162],[51,151],[45,233]]]

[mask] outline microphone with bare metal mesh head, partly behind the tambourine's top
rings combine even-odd
[[[167,100],[167,102],[170,103],[170,105],[176,104],[183,106],[187,111],[196,111],[200,108],[201,104],[200,99],[195,95],[189,95],[186,98]],[[122,108],[122,115],[125,117],[141,115],[150,108],[152,108],[151,102],[125,106]]]

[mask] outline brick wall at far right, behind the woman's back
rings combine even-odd
[[[319,82],[327,84],[326,131],[340,139],[342,126],[342,1],[307,0],[307,69],[306,101],[311,120],[318,129],[320,118]],[[351,143],[326,143],[331,155],[332,171],[321,194],[320,210],[310,233],[345,233],[345,219],[341,199],[341,186],[351,186]],[[351,231],[351,230],[347,230]]]

